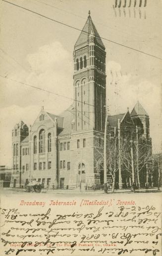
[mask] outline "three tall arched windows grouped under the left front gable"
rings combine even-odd
[[[37,136],[34,136],[34,154],[37,153]],[[39,153],[46,152],[46,132],[41,129],[39,132]],[[48,133],[48,152],[51,152],[51,133]]]

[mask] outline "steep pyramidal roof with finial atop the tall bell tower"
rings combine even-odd
[[[97,44],[100,45],[105,50],[105,46],[104,46],[104,44],[101,40],[101,37],[91,19],[90,11],[89,11],[88,19],[80,33],[80,36],[78,37],[78,40],[76,41],[74,47],[78,47],[78,46],[88,42],[90,34],[94,35],[94,37],[96,38]]]

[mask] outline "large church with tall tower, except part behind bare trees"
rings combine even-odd
[[[73,104],[59,116],[42,107],[30,128],[21,121],[12,130],[10,187],[24,187],[31,179],[54,189],[103,185],[95,147],[100,147],[106,120],[106,51],[90,13],[75,43],[73,60]],[[108,129],[117,130],[118,122],[142,127],[145,139],[151,140],[149,116],[140,103],[131,114],[109,116]]]

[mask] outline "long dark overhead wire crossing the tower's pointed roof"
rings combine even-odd
[[[78,30],[78,31],[82,31],[82,32],[84,32],[84,33],[88,34],[88,32],[87,32],[87,31],[84,31],[84,30],[82,30],[82,29],[79,29],[79,28],[76,28],[76,27],[70,26],[70,25],[68,25],[68,24],[66,24],[66,23],[63,23],[63,22],[61,22],[61,21],[58,21],[58,20],[52,19],[52,18],[47,17],[47,16],[45,16],[45,15],[43,15],[43,14],[41,14],[41,13],[38,13],[38,12],[36,12],[36,11],[33,11],[33,10],[28,9],[28,8],[22,7],[22,6],[18,5],[18,4],[15,4],[15,3],[12,3],[12,2],[9,2],[9,1],[6,1],[6,0],[1,0],[1,1],[3,1],[3,2],[7,2],[7,3],[12,4],[12,5],[16,6],[16,7],[19,7],[19,8],[22,8],[22,9],[24,9],[24,10],[30,11],[30,12],[32,12],[32,13],[34,13],[34,14],[37,14],[37,15],[39,15],[39,16],[41,16],[41,17],[44,17],[44,18],[46,18],[46,19],[49,19],[49,20],[51,20],[51,21],[54,21],[54,22],[56,22],[56,23],[58,23],[58,24],[61,24],[61,25],[63,25],[63,26],[66,26],[66,27],[69,27],[69,28],[72,28],[72,29],[75,29],[75,30]],[[111,42],[111,43],[113,43],[113,44],[116,44],[116,45],[119,45],[119,46],[125,47],[125,48],[127,48],[127,49],[130,49],[130,50],[133,50],[133,51],[136,51],[136,52],[139,52],[139,53],[142,53],[142,54],[145,54],[145,55],[148,55],[148,56],[154,57],[154,58],[159,59],[159,60],[162,60],[160,57],[154,56],[154,55],[152,55],[152,54],[149,54],[149,53],[146,53],[146,52],[140,51],[140,50],[138,50],[138,49],[135,49],[135,48],[132,48],[132,47],[129,47],[129,46],[123,45],[123,44],[120,44],[120,43],[118,43],[118,42],[115,42],[115,41],[109,40],[109,39],[107,39],[107,38],[100,37],[100,36],[96,36],[96,37],[101,38],[101,39],[104,39],[104,40],[106,40],[106,41],[108,41],[108,42]]]

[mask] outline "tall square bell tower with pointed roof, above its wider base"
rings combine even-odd
[[[90,11],[75,43],[73,59],[75,130],[104,131],[106,52]]]

